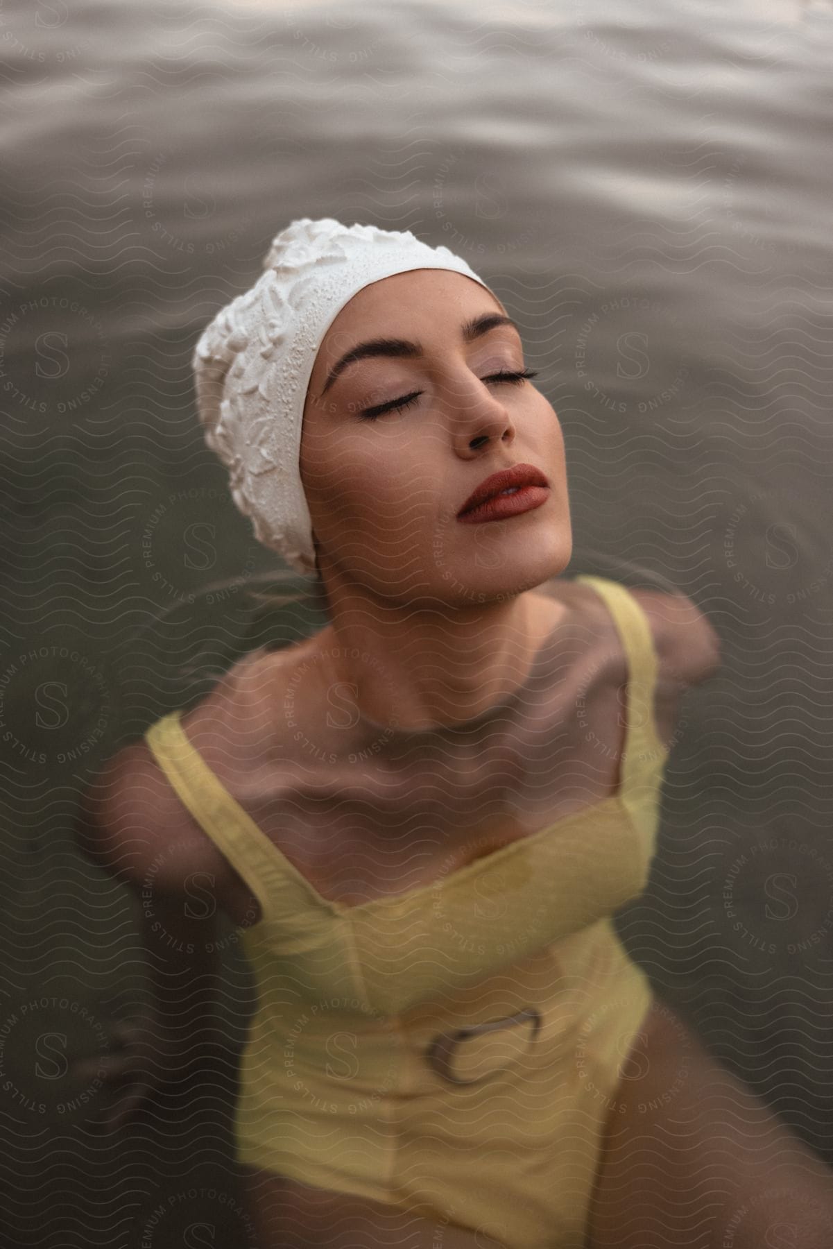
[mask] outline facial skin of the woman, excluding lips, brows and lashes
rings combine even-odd
[[[330,326],[307,390],[300,462],[325,582],[332,570],[340,585],[347,578],[381,597],[483,603],[540,586],[568,563],[564,446],[553,407],[528,380],[485,380],[525,368],[518,331],[498,325],[463,337],[466,322],[495,313],[506,315],[478,282],[420,269],[363,287]],[[388,347],[337,367],[356,346],[381,338],[416,350]],[[401,411],[371,418],[401,400]],[[461,523],[457,512],[475,487],[516,463],[543,472],[546,502]]]

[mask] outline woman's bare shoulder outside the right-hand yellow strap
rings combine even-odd
[[[721,638],[708,616],[687,595],[632,590],[653,633],[658,677],[698,684],[721,666]]]

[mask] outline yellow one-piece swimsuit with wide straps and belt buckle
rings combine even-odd
[[[576,580],[606,601],[628,658],[619,792],[405,894],[327,902],[179,712],[149,729],[262,908],[240,928],[259,1004],[239,1163],[482,1228],[510,1249],[583,1247],[604,1122],[652,1002],[611,917],[647,883],[668,751],[644,612],[617,582]]]

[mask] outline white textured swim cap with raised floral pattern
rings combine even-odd
[[[275,236],[262,276],[217,312],[194,350],[205,440],[255,536],[297,572],[315,572],[300,455],[318,347],[357,291],[413,269],[451,269],[488,290],[465,260],[410,230],[301,217]]]

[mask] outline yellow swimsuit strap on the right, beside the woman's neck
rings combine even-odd
[[[574,580],[591,586],[604,601],[627,657],[627,702],[619,714],[626,723],[621,792],[628,794],[644,784],[657,761],[668,756],[668,747],[657,732],[654,714],[658,663],[653,631],[642,605],[618,581],[589,575]]]

